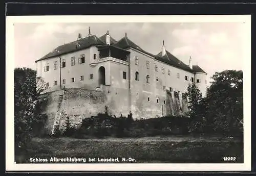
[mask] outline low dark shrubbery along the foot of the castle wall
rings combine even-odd
[[[69,120],[66,123],[70,123]],[[79,128],[64,132],[63,136],[75,138],[104,138],[104,137],[146,137],[169,134],[188,133],[190,118],[162,117],[144,120],[133,120],[132,113],[120,117],[98,114],[84,118]]]

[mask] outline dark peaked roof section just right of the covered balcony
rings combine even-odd
[[[143,52],[147,55],[150,55],[152,57],[155,57],[155,55],[151,54],[151,53],[148,53],[146,51],[144,51],[140,46],[138,46],[137,44],[135,44],[134,42],[132,42],[127,36],[121,38],[119,41],[117,41],[115,44],[113,44],[114,46],[117,46],[119,48],[122,48],[122,49],[127,49],[127,48],[134,48],[134,49],[137,49],[138,51],[140,52]]]

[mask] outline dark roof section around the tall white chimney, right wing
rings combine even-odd
[[[156,59],[160,60],[162,62],[168,63],[170,65],[173,65],[175,67],[181,68],[183,70],[193,72],[193,70],[190,69],[188,65],[186,65],[184,62],[180,61],[178,58],[176,58],[174,55],[170,54],[168,51],[166,51],[166,54],[164,56],[162,56],[162,52],[158,53],[156,55]]]

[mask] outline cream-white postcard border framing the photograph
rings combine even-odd
[[[13,23],[61,22],[244,22],[244,163],[224,164],[15,164]],[[86,156],[84,156],[86,157]],[[249,171],[251,170],[251,15],[125,15],[6,17],[6,170],[7,171]]]

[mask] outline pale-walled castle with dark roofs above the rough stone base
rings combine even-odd
[[[102,91],[114,114],[130,111],[137,117],[181,115],[186,107],[188,84],[195,83],[206,95],[206,72],[186,65],[164,45],[157,55],[144,51],[127,34],[113,39],[109,31],[101,37],[78,34],[77,40],[55,48],[35,61],[37,77],[52,92],[63,88]],[[182,112],[183,111],[183,112]],[[179,112],[179,113],[177,113]]]

